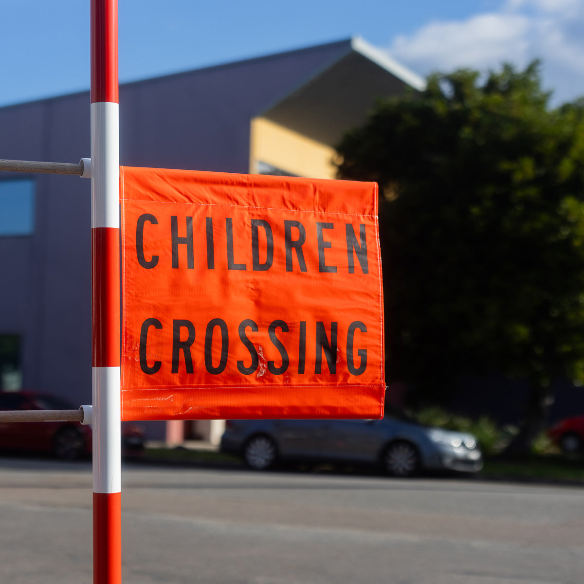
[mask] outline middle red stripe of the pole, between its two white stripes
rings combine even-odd
[[[119,367],[120,230],[94,227],[91,253],[93,367]]]

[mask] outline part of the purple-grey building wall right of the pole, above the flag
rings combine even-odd
[[[249,122],[348,50],[346,42],[120,87],[127,166],[249,172]]]

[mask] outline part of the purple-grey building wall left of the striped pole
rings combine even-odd
[[[0,158],[89,156],[89,93],[0,109]],[[22,337],[23,386],[91,402],[91,186],[75,176],[0,173],[36,182],[34,232],[0,237],[0,333]]]

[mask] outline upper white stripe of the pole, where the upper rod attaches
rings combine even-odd
[[[119,109],[113,102],[91,104],[92,227],[120,228]]]

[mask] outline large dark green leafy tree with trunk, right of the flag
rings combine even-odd
[[[529,380],[526,450],[553,378],[584,381],[584,101],[539,65],[462,69],[378,103],[338,147],[380,185],[387,373],[445,401],[460,374]]]

